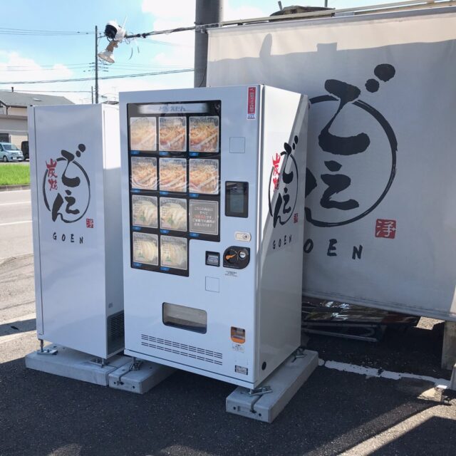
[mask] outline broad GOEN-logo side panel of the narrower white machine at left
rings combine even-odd
[[[42,337],[105,357],[101,107],[34,112]]]

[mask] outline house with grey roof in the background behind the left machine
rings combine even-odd
[[[0,142],[12,142],[21,148],[28,140],[27,107],[38,105],[73,105],[65,97],[0,90]]]

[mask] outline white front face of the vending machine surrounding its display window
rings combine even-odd
[[[128,353],[155,356],[159,363],[174,363],[182,369],[199,369],[204,375],[222,375],[231,383],[254,383],[256,252],[257,252],[257,182],[259,155],[260,87],[255,86],[257,110],[255,118],[247,119],[249,88],[198,88],[136,92],[120,95],[120,122],[122,147],[122,204],[123,204],[123,256],[125,291],[125,348]],[[130,212],[128,175],[128,130],[126,103],[186,102],[204,100],[221,101],[221,158],[220,158],[220,242],[190,239],[189,276],[175,276],[155,271],[133,269],[130,263]],[[230,153],[230,138],[239,147]],[[239,153],[238,153],[239,152]],[[225,181],[249,182],[249,217],[225,217]],[[161,197],[161,196],[160,196]],[[204,199],[201,197],[200,199]],[[235,232],[248,232],[249,242],[239,242]],[[249,265],[242,270],[222,266],[224,249],[242,245],[251,249]],[[205,264],[207,251],[219,252],[220,266]],[[207,291],[207,281],[216,284]],[[207,333],[185,331],[162,323],[162,304],[178,304],[207,311]],[[246,330],[246,342],[238,346],[232,342],[230,327]],[[158,341],[158,343],[156,343]],[[161,341],[161,342],[160,342]],[[163,345],[165,343],[165,345]],[[171,346],[166,344],[172,344]],[[160,348],[160,350],[158,348]],[[171,347],[171,348],[170,348]],[[185,347],[203,352],[197,357],[182,356]],[[165,348],[165,349],[163,349]],[[214,363],[210,353],[219,353],[220,363]],[[150,359],[150,358],[149,358]],[[210,360],[210,361],[208,361]],[[193,367],[192,367],[193,366]],[[246,368],[248,373],[235,373],[234,366]]]

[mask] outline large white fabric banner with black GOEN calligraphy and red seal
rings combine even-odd
[[[309,95],[307,296],[456,320],[456,9],[438,11],[209,31],[208,85]]]

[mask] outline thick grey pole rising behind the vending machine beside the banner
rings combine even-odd
[[[222,21],[223,0],[197,0],[195,25],[218,24]],[[195,87],[206,86],[207,31],[195,30]]]

